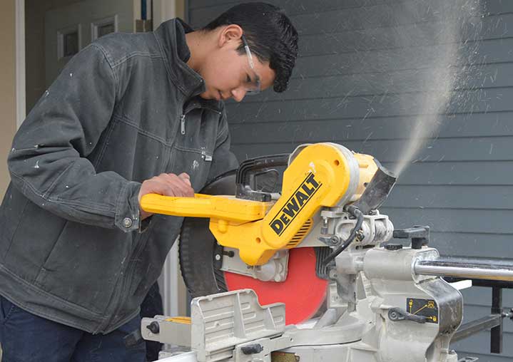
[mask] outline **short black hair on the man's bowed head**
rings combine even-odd
[[[233,6],[203,28],[210,31],[223,25],[237,24],[252,53],[260,61],[269,61],[276,73],[273,89],[283,92],[287,89],[295,58],[298,56],[298,31],[278,6],[254,2]],[[238,48],[245,54],[241,42]]]

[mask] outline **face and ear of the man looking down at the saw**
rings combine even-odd
[[[240,29],[240,28],[239,28]],[[235,35],[234,35],[235,34]],[[252,53],[253,67],[247,53],[237,51],[241,44],[240,34],[228,30],[220,31],[218,46],[208,54],[199,73],[205,80],[206,90],[201,98],[243,100],[248,90],[258,84],[260,90],[273,85],[275,71],[269,62],[262,63]]]

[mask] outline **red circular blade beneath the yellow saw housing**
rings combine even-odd
[[[315,249],[290,249],[287,279],[282,282],[260,281],[251,276],[225,272],[228,290],[253,289],[260,305],[285,303],[285,324],[306,321],[324,306],[327,280],[315,273]]]

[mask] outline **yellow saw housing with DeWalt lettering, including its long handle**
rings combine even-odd
[[[276,202],[230,196],[145,195],[147,212],[210,218],[210,231],[220,245],[239,250],[248,265],[262,265],[280,249],[298,246],[321,207],[354,202],[377,170],[370,155],[353,153],[335,143],[303,145],[290,155]]]

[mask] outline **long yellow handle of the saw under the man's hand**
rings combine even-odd
[[[195,194],[173,197],[148,194],[141,197],[141,208],[153,214],[182,217],[207,217],[231,222],[250,222],[265,217],[270,202],[240,200],[230,196]]]

